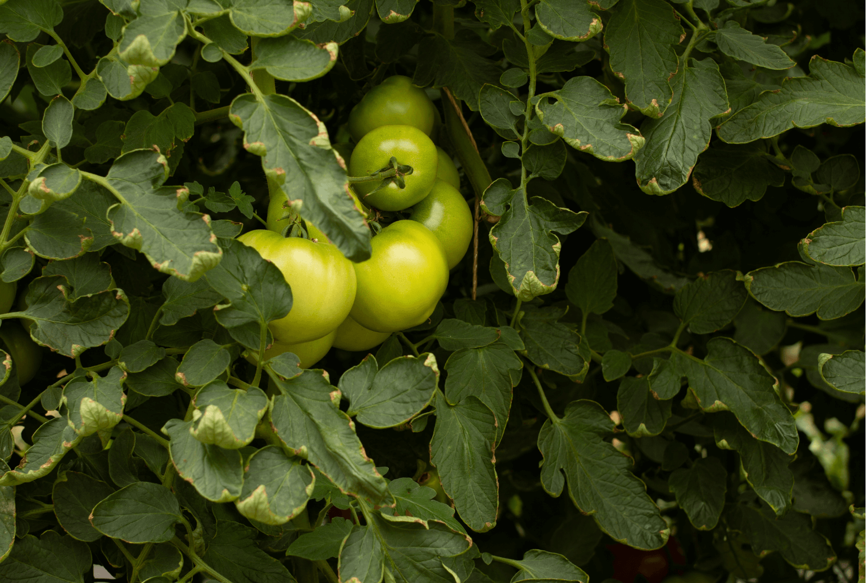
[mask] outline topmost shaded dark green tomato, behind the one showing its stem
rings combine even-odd
[[[436,106],[422,88],[403,75],[394,75],[373,87],[352,108],[349,133],[356,143],[382,125],[413,125],[428,136],[433,131]]]

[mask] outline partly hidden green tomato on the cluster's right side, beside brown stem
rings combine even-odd
[[[418,221],[436,235],[445,247],[448,268],[453,269],[472,240],[472,211],[460,191],[443,180],[436,180],[430,194],[412,207],[411,221]]]

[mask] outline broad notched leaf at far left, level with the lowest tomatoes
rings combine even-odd
[[[68,299],[66,278],[60,275],[30,282],[27,310],[17,312],[33,320],[30,336],[65,356],[75,357],[88,348],[111,340],[129,314],[122,290],[109,290]]]

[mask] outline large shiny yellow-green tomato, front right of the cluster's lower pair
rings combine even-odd
[[[422,324],[448,285],[442,243],[419,222],[397,221],[382,229],[371,244],[371,258],[354,264],[358,292],[352,319],[376,332]]]

